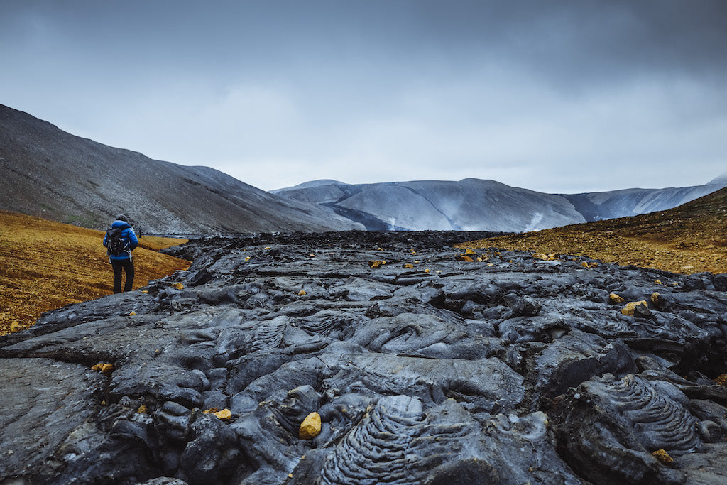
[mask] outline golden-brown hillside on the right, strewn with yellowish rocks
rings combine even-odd
[[[458,244],[573,254],[675,273],[727,273],[727,188],[674,209]]]

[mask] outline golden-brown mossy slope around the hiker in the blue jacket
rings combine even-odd
[[[104,233],[0,211],[0,334],[25,329],[42,313],[111,294]],[[157,252],[180,239],[142,236],[134,249],[134,289],[189,262]]]

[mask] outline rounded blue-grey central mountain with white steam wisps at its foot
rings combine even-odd
[[[363,185],[326,181],[274,193],[327,205],[369,229],[519,232],[585,222],[563,196],[494,180]]]

